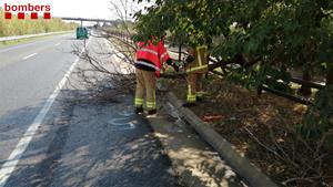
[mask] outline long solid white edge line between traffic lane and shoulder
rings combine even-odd
[[[88,40],[85,48],[88,46],[90,40]],[[84,51],[82,49],[81,53]],[[59,92],[65,84],[67,80],[69,79],[71,72],[74,70],[77,63],[79,62],[80,58],[78,56],[74,61],[74,63],[70,66],[68,72],[64,74],[62,80],[59,82],[58,86],[53,91],[52,95],[48,98],[47,103],[43,105],[42,110],[39,112],[38,116],[34,118],[32,124],[29,126],[27,132],[24,133],[23,137],[20,139],[13,152],[10,154],[10,156],[7,158],[6,163],[2,165],[0,169],[0,187],[3,187],[7,183],[7,179],[11,176],[12,172],[14,170],[17,164],[19,163],[21,156],[26,152],[29,143],[33,138],[37,129],[40,127],[43,118],[46,117],[48,111],[52,106],[56,97],[58,96]]]

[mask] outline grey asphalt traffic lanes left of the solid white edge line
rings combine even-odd
[[[6,160],[75,56],[73,34],[0,49],[0,160]]]

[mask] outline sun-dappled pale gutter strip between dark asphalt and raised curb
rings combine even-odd
[[[170,102],[161,103],[159,116],[148,120],[182,185],[245,186],[232,168],[221,159],[219,153],[214,152],[189,124],[178,116],[176,110]]]

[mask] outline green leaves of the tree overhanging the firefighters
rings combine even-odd
[[[292,69],[327,74],[333,63],[332,0],[157,0],[147,13],[134,17],[137,40],[168,32],[179,39],[173,40],[176,44],[206,43],[218,60],[234,62],[235,56],[246,56],[245,65],[230,64],[229,77],[250,89],[268,84],[290,91]],[[246,66],[255,56],[260,61]],[[276,83],[279,80],[285,83]],[[305,134],[311,126],[321,135],[332,128],[330,92],[325,89],[316,94],[315,106],[302,125]]]

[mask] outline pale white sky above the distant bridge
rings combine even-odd
[[[74,17],[74,18],[94,18],[94,19],[118,19],[115,4],[120,10],[124,10],[122,2],[128,2],[128,14],[142,9],[148,3],[138,6],[133,0],[0,0],[0,7],[8,4],[50,4],[52,17]],[[128,15],[130,18],[130,15]]]

